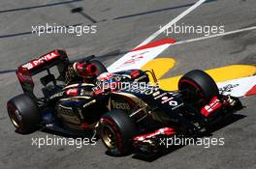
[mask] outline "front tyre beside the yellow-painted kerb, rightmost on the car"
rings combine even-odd
[[[203,70],[191,70],[185,73],[178,81],[179,91],[188,91],[186,99],[203,100],[208,103],[213,97],[219,96],[219,90],[214,80]]]

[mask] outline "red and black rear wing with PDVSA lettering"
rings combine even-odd
[[[28,63],[19,66],[16,70],[16,76],[23,92],[34,96],[34,82],[32,79],[33,75],[44,70],[48,70],[48,74],[50,74],[49,69],[53,66],[57,66],[59,74],[63,75],[68,64],[69,59],[66,51],[55,49],[37,59],[31,60]]]

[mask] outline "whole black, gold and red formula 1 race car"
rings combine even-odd
[[[65,84],[71,62],[63,50],[54,50],[16,70],[24,94],[10,99],[7,109],[16,131],[38,128],[80,134],[96,133],[110,155],[155,153],[163,137],[191,136],[240,109],[240,99],[223,96],[203,70],[191,70],[177,91],[164,91],[152,70],[108,70],[93,57],[85,58],[86,72],[95,77]],[[57,67],[59,76],[50,69]],[[44,97],[34,94],[32,76],[40,79]],[[152,75],[154,84],[149,84]]]

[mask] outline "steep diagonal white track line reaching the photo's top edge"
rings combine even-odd
[[[148,42],[151,42],[153,39],[155,39],[157,36],[159,36],[161,33],[163,33],[165,30],[167,30],[168,28],[170,28],[171,26],[173,26],[178,20],[180,20],[181,18],[183,18],[185,15],[191,13],[193,10],[195,10],[196,8],[198,8],[200,5],[202,5],[203,3],[205,3],[207,0],[199,0],[197,3],[195,3],[193,6],[191,6],[190,8],[188,8],[186,11],[184,11],[183,13],[179,14],[176,16],[176,18],[174,18],[172,21],[170,21],[168,24],[166,24],[164,27],[162,27],[161,29],[159,29],[158,31],[156,31],[155,33],[153,33],[150,37],[148,37],[144,42],[142,42],[141,44],[139,44],[138,46],[142,46]],[[137,47],[138,47],[137,46]]]

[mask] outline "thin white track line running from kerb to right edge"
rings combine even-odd
[[[222,36],[226,36],[226,35],[237,34],[237,33],[240,33],[240,32],[251,31],[251,30],[254,30],[254,29],[256,29],[256,26],[243,28],[243,29],[239,29],[239,30],[236,30],[236,31],[225,32],[225,33],[222,33],[222,34],[210,35],[208,37],[200,37],[200,38],[175,42],[171,45],[183,44],[183,43],[188,43],[188,42],[199,42],[199,41],[208,40],[208,39],[217,38],[217,37],[222,37]]]

